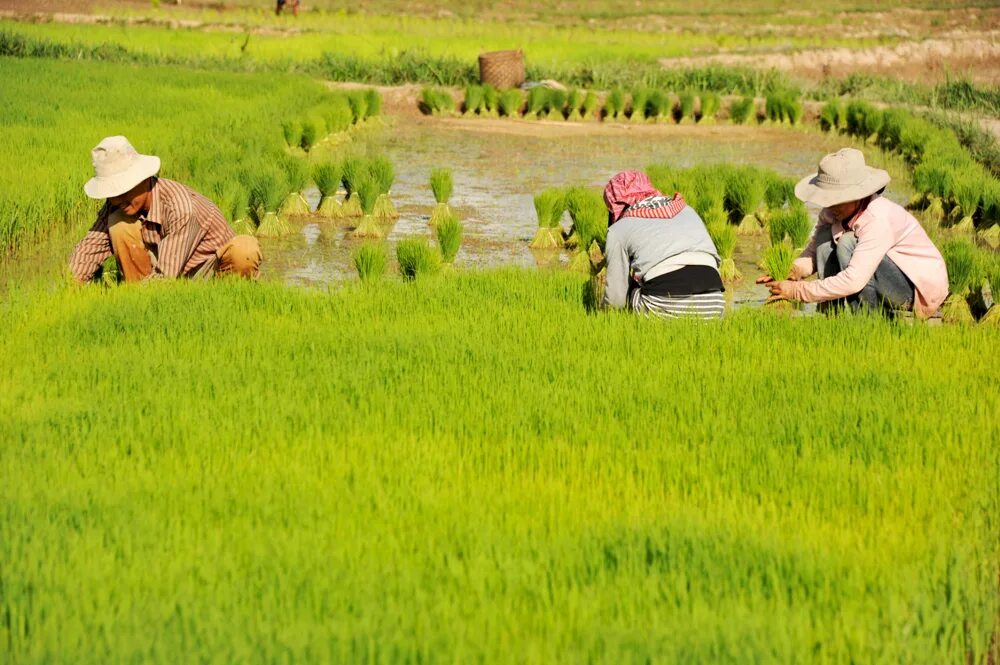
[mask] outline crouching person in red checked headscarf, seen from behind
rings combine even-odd
[[[719,254],[680,194],[664,196],[645,173],[619,173],[608,207],[604,306],[664,318],[717,318],[725,309]]]

